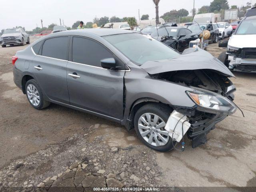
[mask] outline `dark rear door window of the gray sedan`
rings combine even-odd
[[[42,46],[42,56],[68,60],[68,45],[68,36],[46,39]]]

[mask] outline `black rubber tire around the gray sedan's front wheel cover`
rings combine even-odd
[[[149,144],[148,142],[146,142],[146,140],[144,140],[144,138],[141,136],[139,128],[138,128],[138,122],[139,122],[140,116],[142,116],[145,113],[153,113],[153,114],[158,115],[160,118],[162,118],[162,120],[164,120],[164,122],[166,123],[168,118],[170,117],[171,112],[172,112],[172,109],[170,107],[167,107],[164,104],[159,104],[159,103],[146,104],[146,105],[142,106],[136,112],[136,114],[134,116],[134,128],[135,128],[135,131],[136,131],[138,137],[140,138],[140,140],[147,147],[149,147],[153,150],[156,150],[156,151],[166,152],[166,151],[172,150],[174,148],[173,144],[175,145],[176,142],[173,142],[173,144],[172,144],[171,137],[169,137],[168,142],[164,146],[153,146],[153,145]]]

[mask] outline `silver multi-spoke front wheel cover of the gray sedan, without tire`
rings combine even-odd
[[[164,146],[170,136],[164,129],[166,122],[153,113],[142,114],[138,120],[138,129],[142,138],[152,146]]]

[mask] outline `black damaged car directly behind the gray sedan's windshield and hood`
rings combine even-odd
[[[188,48],[190,41],[198,38],[198,35],[192,33],[188,28],[168,26],[160,27],[158,30],[152,32],[151,36],[178,52],[183,52]]]

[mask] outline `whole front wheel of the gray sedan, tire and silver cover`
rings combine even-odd
[[[149,148],[166,152],[174,148],[169,132],[164,129],[172,110],[164,104],[146,104],[134,116],[134,128]]]

